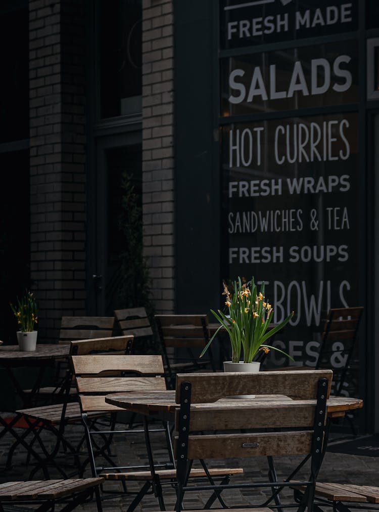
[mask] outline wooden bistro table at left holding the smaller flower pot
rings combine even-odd
[[[36,350],[25,352],[19,350],[18,345],[0,346],[0,367],[6,369],[17,395],[21,398],[22,405],[19,409],[27,409],[33,403],[46,369],[53,366],[57,359],[68,358],[69,353],[70,345],[37,344]],[[14,372],[16,368],[23,367],[38,368],[33,387],[27,393],[24,392]]]

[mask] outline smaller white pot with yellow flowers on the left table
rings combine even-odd
[[[17,305],[10,304],[16,317],[19,331],[17,331],[17,342],[21,351],[32,351],[36,349],[37,331],[34,326],[37,323],[37,303],[32,292],[26,290],[21,300],[17,297]]]

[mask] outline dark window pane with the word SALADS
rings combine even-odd
[[[224,116],[358,101],[356,41],[338,41],[221,60]]]

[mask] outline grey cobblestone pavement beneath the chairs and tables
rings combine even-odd
[[[124,426],[124,425],[122,425]],[[66,431],[70,441],[78,442],[82,436],[81,425],[70,426]],[[165,460],[165,450],[163,449],[164,443],[160,437],[162,434],[154,434],[152,437],[154,453],[158,459]],[[51,436],[44,435],[43,439],[47,445],[52,445]],[[12,439],[9,434],[4,436],[0,444],[0,460],[2,471],[0,473],[0,481],[5,482],[9,480],[27,480],[29,473],[33,467],[32,461],[26,465],[26,452],[24,449],[17,450],[13,458],[13,465],[10,470],[4,470],[5,460],[9,452],[9,447],[12,443]],[[144,439],[141,434],[132,433],[130,435],[121,434],[115,439],[115,445],[113,454],[119,464],[143,464],[146,462],[146,450]],[[84,460],[86,452],[84,447],[81,453],[81,459]],[[278,457],[276,459],[277,471],[279,477],[281,475],[288,475],[291,473],[292,468],[296,463],[300,462],[301,457]],[[56,461],[61,464],[64,471],[72,477],[76,477],[75,466],[73,458],[69,455],[61,453],[56,457]],[[235,459],[235,460],[224,460],[221,461],[221,465],[230,467],[243,467],[243,476],[233,477],[233,483],[247,482],[260,477],[264,477],[267,474],[267,462],[264,457],[249,458],[249,459]],[[218,464],[219,465],[219,464]],[[303,476],[307,474],[308,466],[304,467]],[[91,476],[90,469],[87,467],[84,476]],[[301,477],[301,476],[300,476]],[[55,470],[51,471],[50,478],[61,478],[58,472]],[[43,479],[41,473],[35,475],[34,479]],[[379,485],[379,458],[377,457],[366,457],[366,456],[355,456],[347,454],[336,454],[327,453],[321,468],[319,475],[321,481],[335,481],[335,482],[350,482],[366,485]],[[134,491],[140,488],[140,484],[128,485],[128,490]],[[121,485],[118,482],[106,483],[103,490],[108,493],[103,493],[103,507],[104,512],[123,511],[127,509],[132,497],[129,496],[118,496],[116,498],[110,498],[109,491],[119,492]],[[165,501],[167,510],[172,509],[175,494],[174,490],[170,487],[165,488]],[[285,493],[286,496],[291,496],[291,491]],[[200,508],[207,499],[207,494],[203,493],[188,493],[185,499],[186,508]],[[261,502],[263,494],[260,490],[252,489],[229,489],[223,494],[228,505],[249,505],[257,504]],[[213,507],[217,506],[214,504]],[[95,503],[86,504],[83,507],[86,512],[95,512]],[[142,503],[136,508],[136,512],[159,510],[157,500],[153,495],[146,496]],[[329,509],[325,509],[329,512]],[[331,508],[330,508],[331,511]]]

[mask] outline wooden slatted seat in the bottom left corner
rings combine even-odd
[[[1,504],[12,505],[31,502],[40,504],[41,509],[53,508],[58,503],[65,503],[66,510],[87,503],[95,496],[98,512],[101,512],[99,485],[103,478],[80,478],[68,480],[29,480],[4,482],[0,484]]]

